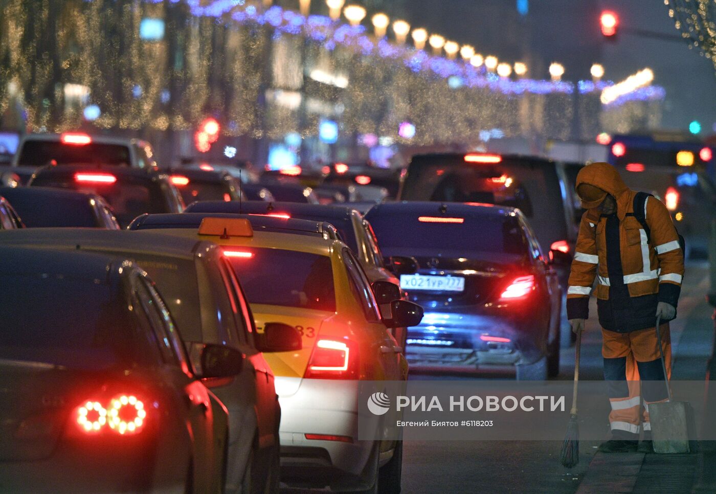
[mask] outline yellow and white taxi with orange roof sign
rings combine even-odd
[[[130,229],[218,243],[251,304],[259,332],[294,326],[303,348],[266,355],[281,402],[281,481],[333,490],[400,492],[402,444],[357,440],[360,380],[407,379],[388,327],[415,326],[422,309],[404,300],[382,319],[359,261],[324,223],[263,215],[143,215]],[[392,284],[391,284],[392,286]],[[392,289],[392,288],[391,288]],[[374,437],[381,437],[376,422]]]

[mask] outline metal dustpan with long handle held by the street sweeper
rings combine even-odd
[[[664,384],[667,387],[669,401],[649,404],[649,421],[652,425],[654,452],[687,453],[690,451],[688,424],[692,419],[691,407],[688,402],[672,401],[669,380],[667,379],[667,366],[664,362],[660,324],[661,318],[657,317],[657,345],[662,359]]]

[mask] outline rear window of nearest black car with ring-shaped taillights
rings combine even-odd
[[[0,274],[0,359],[105,369],[135,361],[135,320],[110,286]]]

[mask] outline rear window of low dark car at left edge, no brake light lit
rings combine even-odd
[[[12,204],[22,222],[28,228],[100,226],[89,198],[86,197],[40,197],[36,194],[12,192],[6,198]]]

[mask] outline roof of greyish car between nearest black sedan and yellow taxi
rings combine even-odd
[[[9,232],[9,231],[8,231]],[[127,250],[155,256],[193,259],[195,254],[208,253],[215,246],[211,242],[176,239],[151,231],[104,230],[101,228],[24,228],[12,233],[0,233],[0,246],[9,244],[43,244],[107,246],[117,251]]]

